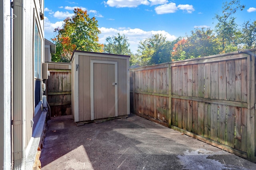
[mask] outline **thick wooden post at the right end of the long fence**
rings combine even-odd
[[[255,51],[253,53],[255,53]],[[255,163],[255,57],[251,55],[247,57],[247,159]]]

